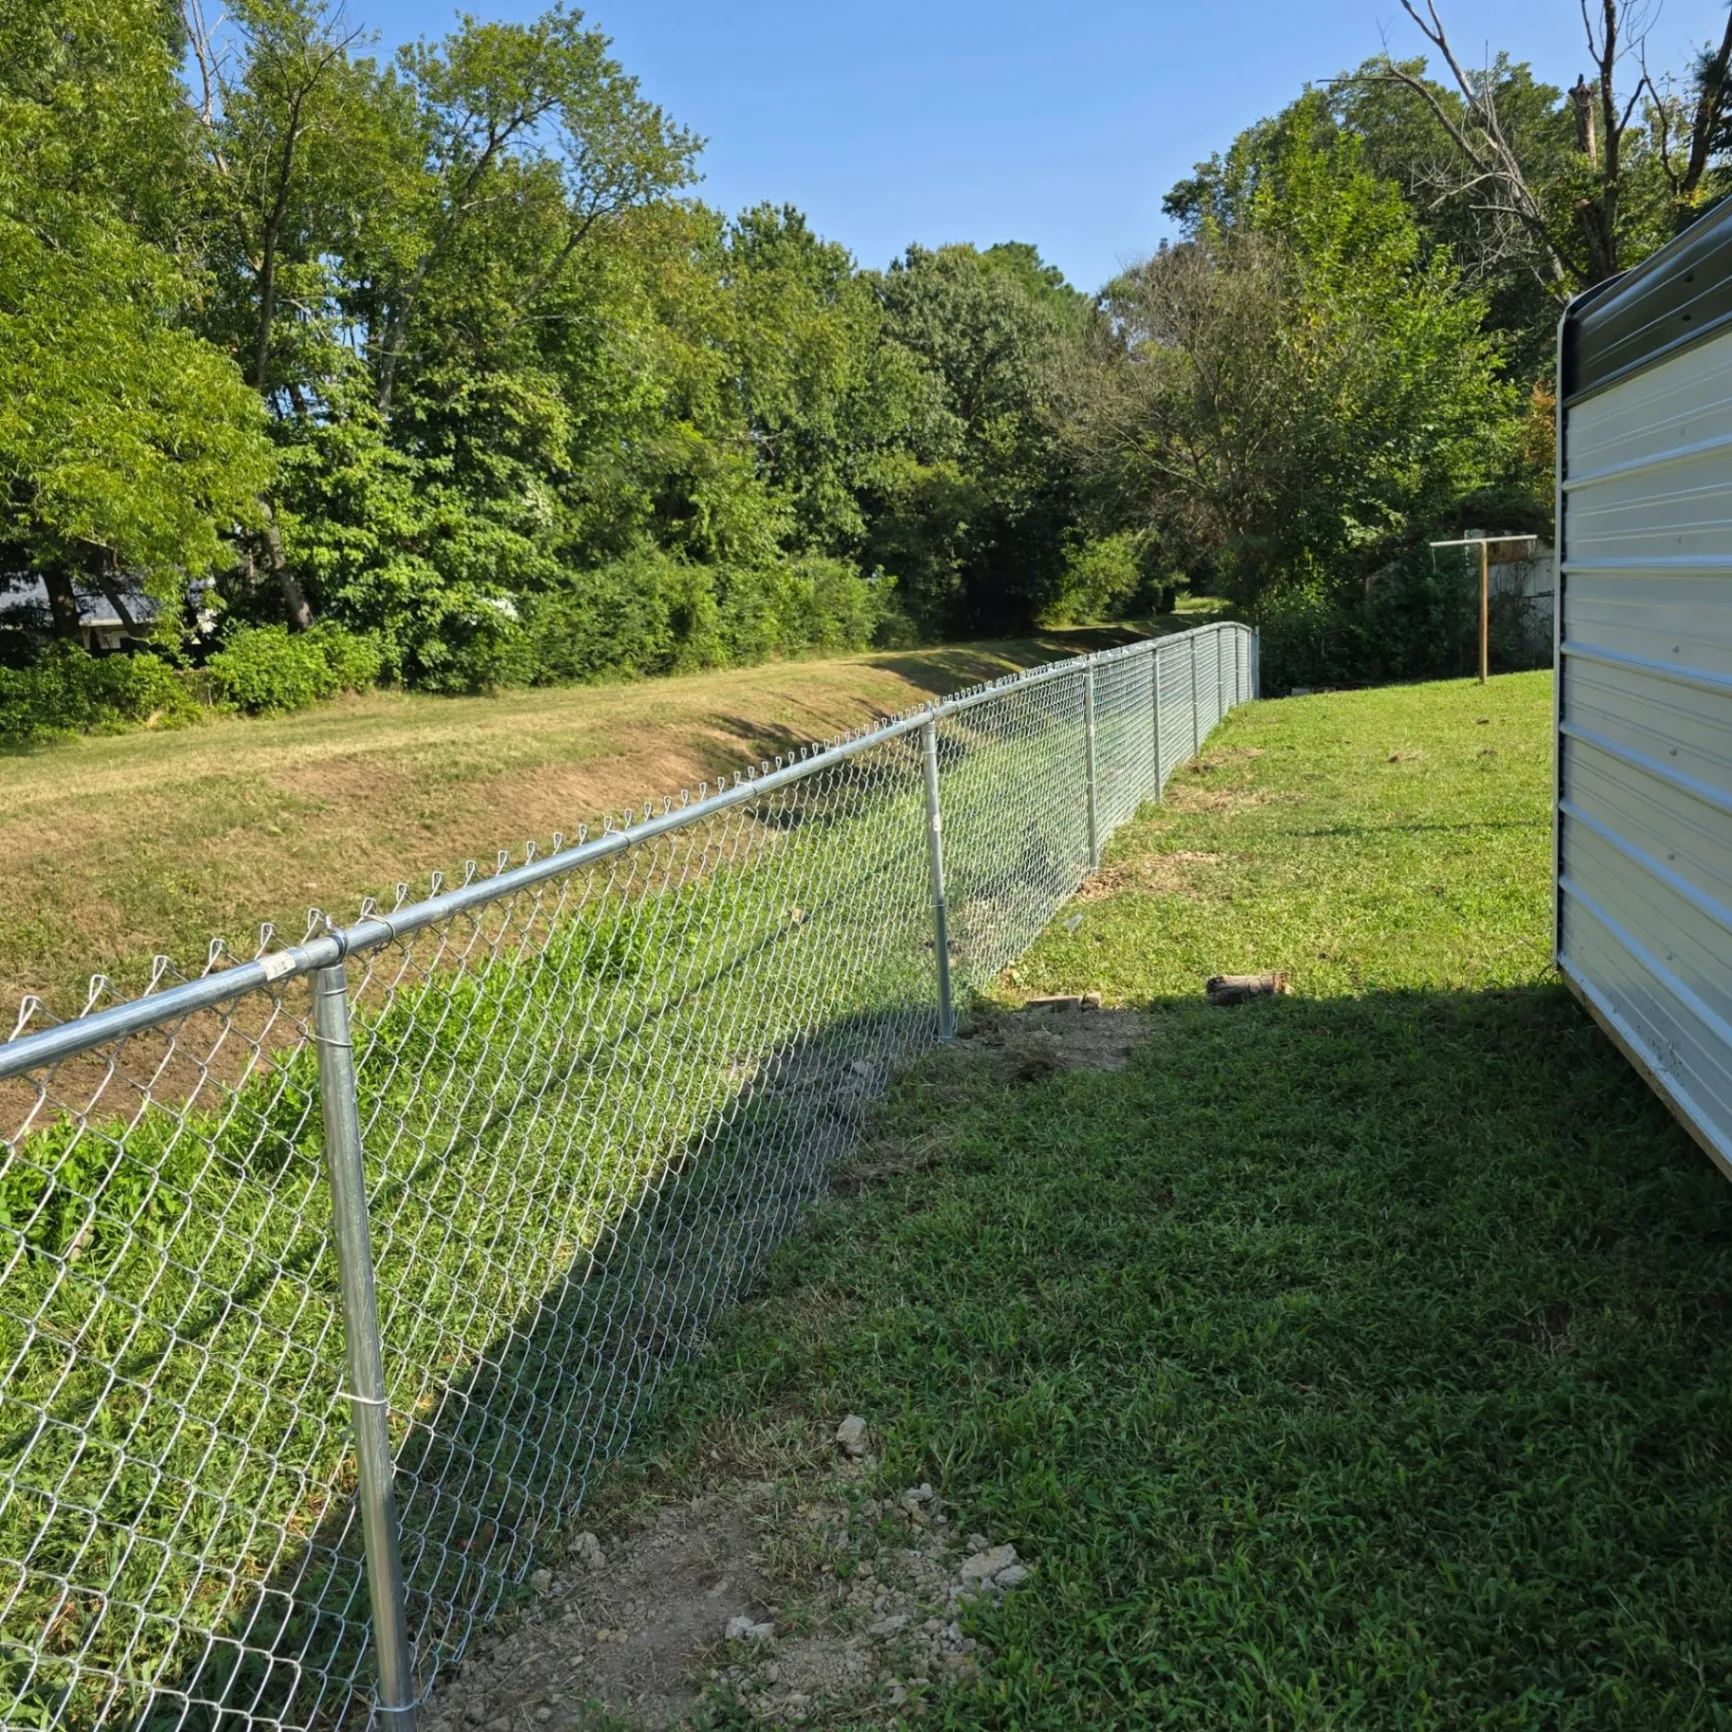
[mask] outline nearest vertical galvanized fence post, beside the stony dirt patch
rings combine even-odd
[[[385,1408],[385,1354],[379,1301],[372,1285],[372,1233],[367,1176],[360,1155],[360,1103],[348,1024],[348,980],[341,963],[313,975],[313,1044],[324,1108],[326,1171],[338,1283],[343,1290],[343,1346],[348,1410],[355,1427],[355,1498],[367,1554],[372,1640],[379,1663],[378,1718],[395,1732],[414,1732],[416,1685],[404,1611],[404,1564],[397,1550],[391,1495],[391,1431]]]

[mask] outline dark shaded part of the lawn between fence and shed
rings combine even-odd
[[[1141,1010],[1112,1074],[913,1067],[675,1453],[885,1415],[1036,1561],[991,1701],[1048,1725],[1718,1725],[1711,1162],[1557,986]]]

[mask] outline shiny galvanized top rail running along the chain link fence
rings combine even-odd
[[[785,762],[778,759],[774,769],[766,764],[759,769],[746,767],[738,771],[731,783],[724,779],[724,785],[712,795],[693,800],[688,793],[682,793],[677,798],[667,797],[660,802],[650,802],[644,805],[641,818],[632,819],[627,814],[627,821],[618,828],[615,828],[615,819],[610,818],[604,821],[601,833],[594,837],[589,835],[587,826],[580,826],[578,840],[573,847],[558,847],[553,854],[535,857],[532,843],[530,857],[521,866],[502,868],[485,878],[469,876],[452,890],[435,889],[433,895],[419,902],[400,904],[390,913],[379,913],[369,897],[362,902],[362,918],[352,925],[331,927],[327,921],[326,932],[317,935],[310,932],[303,942],[289,944],[277,951],[263,951],[251,961],[216,968],[215,960],[222,954],[222,949],[220,946],[213,946],[211,972],[196,980],[182,980],[178,986],[163,991],[145,991],[139,998],[126,999],[121,1005],[111,1005],[106,1010],[90,1010],[81,1017],[36,1029],[31,1034],[17,1032],[10,1041],[0,1043],[0,1082],[23,1076],[26,1070],[55,1065],[78,1053],[125,1039],[130,1034],[180,1022],[185,1017],[213,1010],[249,992],[265,991],[298,975],[329,968],[343,961],[345,956],[378,949],[381,944],[390,944],[410,932],[419,932],[435,921],[450,920],[468,909],[516,895],[520,890],[546,883],[549,878],[580,871],[613,854],[667,835],[670,830],[681,830],[686,824],[700,823],[717,812],[804,781],[809,776],[823,774],[837,764],[859,757],[863,752],[882,746],[890,740],[914,733],[928,722],[942,721],[947,715],[960,715],[1010,691],[1041,686],[1065,674],[1081,674],[1089,665],[1103,662],[1159,655],[1167,644],[1223,630],[1249,634],[1251,627],[1240,620],[1209,620],[1204,625],[1193,625],[1183,632],[1169,632],[1164,637],[1143,637],[1112,650],[1096,650],[1089,655],[1067,656],[1062,662],[1044,662],[1039,667],[1020,669],[1015,674],[1005,674],[1001,679],[987,681],[954,696],[921,705],[904,715],[876,722],[859,733],[843,734],[828,745],[805,746],[792,760]],[[471,861],[471,871],[473,864]],[[442,876],[435,875],[435,887],[442,882]],[[317,914],[312,918],[317,920]],[[38,998],[26,998],[19,1008],[19,1031],[43,1008]]]

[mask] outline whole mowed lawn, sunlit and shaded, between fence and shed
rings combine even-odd
[[[1548,972],[1548,721],[1231,717],[1005,977],[1129,1067],[925,1060],[663,1394],[675,1484],[857,1412],[1034,1562],[925,1723],[1732,1723],[1732,1190]]]

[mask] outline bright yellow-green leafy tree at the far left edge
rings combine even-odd
[[[178,601],[270,473],[256,400],[187,329],[173,54],[151,0],[0,7],[0,546],[62,636],[74,580],[123,617],[130,582]]]

